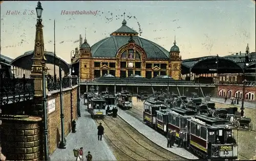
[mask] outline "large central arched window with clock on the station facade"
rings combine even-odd
[[[137,50],[127,49],[120,58],[120,77],[141,75],[141,56]]]

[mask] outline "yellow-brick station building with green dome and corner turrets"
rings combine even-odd
[[[123,20],[121,27],[110,37],[92,46],[85,38],[79,50],[75,49],[72,60],[73,65],[80,62],[80,78],[89,80],[105,74],[123,78],[136,74],[145,78],[168,75],[181,79],[180,49],[176,40],[167,51],[138,35]]]

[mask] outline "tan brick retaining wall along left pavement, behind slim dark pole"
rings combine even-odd
[[[56,150],[61,140],[60,125],[60,94],[57,91],[49,92],[47,100],[55,99],[55,111],[48,114],[48,141],[50,155]],[[63,112],[64,112],[64,130],[65,136],[71,131],[72,119],[77,118],[77,86],[67,88],[62,92]],[[71,99],[72,98],[72,99]],[[72,107],[71,107],[72,103]]]

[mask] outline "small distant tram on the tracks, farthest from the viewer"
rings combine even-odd
[[[117,94],[117,105],[122,109],[131,109],[133,95],[128,91],[122,91]]]

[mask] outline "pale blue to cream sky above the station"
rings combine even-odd
[[[36,1],[1,4],[1,54],[14,59],[34,49],[36,5]],[[176,36],[182,59],[243,53],[247,43],[250,52],[255,51],[253,0],[41,1],[41,5],[45,50],[54,51],[55,19],[56,55],[68,63],[80,34],[84,38],[86,31],[92,46],[120,28],[123,12],[127,26],[168,51]],[[77,10],[92,14],[61,14]]]

